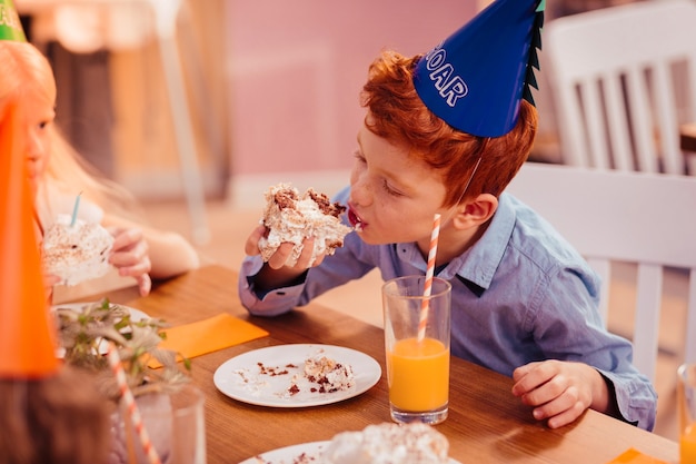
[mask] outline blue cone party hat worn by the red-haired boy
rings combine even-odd
[[[496,0],[416,66],[422,102],[455,129],[499,137],[517,122],[523,99],[538,89],[546,0]]]

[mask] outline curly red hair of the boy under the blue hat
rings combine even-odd
[[[447,189],[444,207],[480,194],[498,197],[531,150],[537,130],[536,108],[523,100],[517,125],[501,137],[477,137],[457,130],[435,116],[418,97],[412,71],[420,58],[384,51],[370,65],[361,93],[361,105],[371,115],[366,118],[368,129],[441,171]]]

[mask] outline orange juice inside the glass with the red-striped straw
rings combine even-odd
[[[435,338],[395,342],[387,353],[389,401],[402,411],[432,411],[449,396],[449,349]]]

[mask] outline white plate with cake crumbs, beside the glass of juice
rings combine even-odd
[[[317,355],[352,367],[355,386],[332,393],[312,392],[310,387],[317,384],[310,384],[301,373],[305,359]],[[266,373],[260,372],[259,363]],[[281,374],[269,375],[269,371]],[[357,396],[371,388],[380,376],[379,363],[364,353],[334,345],[297,344],[269,346],[228,359],[217,368],[212,381],[220,392],[240,402],[260,406],[306,407]],[[294,383],[299,392],[290,395],[288,388]]]

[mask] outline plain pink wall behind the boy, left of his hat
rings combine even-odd
[[[475,0],[230,0],[231,176],[349,168],[372,59],[426,52],[475,12]]]

